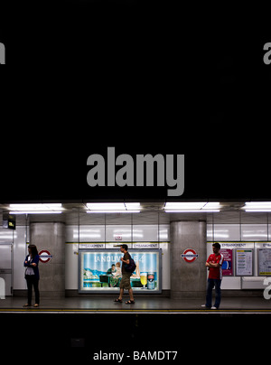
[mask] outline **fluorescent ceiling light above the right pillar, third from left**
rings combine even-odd
[[[189,202],[167,202],[164,211],[168,213],[202,213],[219,212],[220,202],[189,201]]]

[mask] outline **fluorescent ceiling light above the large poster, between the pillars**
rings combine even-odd
[[[88,202],[87,213],[139,213],[139,202]]]

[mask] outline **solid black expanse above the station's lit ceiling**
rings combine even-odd
[[[1,4],[0,202],[166,200],[95,188],[89,154],[185,154],[180,199],[269,199],[261,4]]]

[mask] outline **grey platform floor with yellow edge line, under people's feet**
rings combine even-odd
[[[115,303],[114,297],[63,297],[41,298],[40,307],[23,308],[26,298],[6,297],[0,300],[0,312],[43,312],[43,313],[147,313],[147,314],[177,314],[177,313],[269,313],[271,314],[271,299],[264,297],[222,297],[218,311],[201,308],[201,299],[171,299],[159,297],[135,297],[135,304]]]

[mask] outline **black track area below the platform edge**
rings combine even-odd
[[[25,356],[22,353],[32,350],[34,356],[50,357],[52,363],[71,359],[96,363],[93,357],[99,351],[107,355],[125,353],[125,363],[133,361],[134,351],[146,354],[148,351],[178,351],[175,361],[170,357],[172,363],[182,360],[184,352],[189,352],[193,360],[200,361],[208,348],[223,352],[228,344],[233,349],[242,349],[235,355],[237,360],[248,360],[252,355],[262,359],[266,356],[266,348],[261,349],[261,345],[268,336],[266,321],[269,320],[269,314],[32,313],[1,316],[8,323],[5,333],[0,334],[3,353],[5,349],[5,352],[10,351],[13,360],[21,360]],[[36,335],[31,340],[25,335],[26,323],[34,323]],[[210,332],[210,323],[220,333],[216,341]],[[246,351],[244,332],[251,332],[252,326],[261,335],[252,338],[250,349]],[[84,347],[72,347],[76,343]],[[131,358],[126,358],[127,355]],[[223,356],[227,358],[227,354]]]

